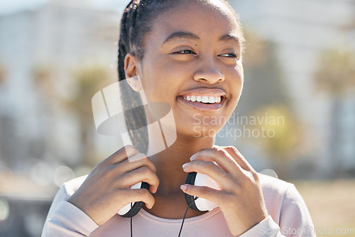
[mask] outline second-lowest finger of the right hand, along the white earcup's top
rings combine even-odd
[[[216,181],[219,189],[234,188],[234,178],[228,172],[222,170],[221,167],[212,161],[192,160],[183,167],[185,172],[198,172],[200,174],[208,175],[212,180]]]

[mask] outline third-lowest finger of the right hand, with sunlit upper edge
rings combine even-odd
[[[212,148],[212,149],[202,149],[199,150],[192,160],[205,160],[216,162],[219,167],[221,167],[226,172],[232,175],[240,175],[241,167],[234,158],[222,148]]]

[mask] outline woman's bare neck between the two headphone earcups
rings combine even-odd
[[[165,111],[166,108],[160,107],[160,112]],[[167,114],[166,116],[161,114],[158,116],[159,118],[163,117],[159,122],[158,119],[147,116],[151,122],[147,126],[148,150],[146,155],[155,165],[160,183],[157,192],[153,194],[155,198],[153,209],[146,210],[155,216],[181,219],[187,208],[185,194],[180,189],[180,185],[185,184],[187,177],[187,173],[182,170],[182,165],[189,162],[191,156],[197,151],[203,148],[212,148],[214,138],[197,138],[181,133],[176,134],[173,113],[172,111],[166,113],[167,111],[163,113]],[[202,212],[191,209],[188,211],[187,217],[200,214]]]

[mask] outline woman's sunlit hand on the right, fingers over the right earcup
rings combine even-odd
[[[190,184],[182,185],[182,190],[217,204],[233,236],[240,236],[268,216],[258,173],[236,148],[202,149],[183,167],[185,172],[199,172],[217,182],[219,190]]]

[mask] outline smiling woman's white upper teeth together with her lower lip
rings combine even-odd
[[[188,106],[200,111],[217,111],[222,107],[224,101],[226,101],[226,97],[224,96],[207,97],[191,95],[187,97],[179,96],[178,99]]]

